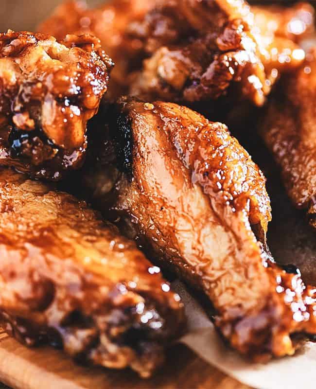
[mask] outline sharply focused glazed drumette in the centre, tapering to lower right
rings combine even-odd
[[[316,334],[315,290],[263,250],[271,215],[257,165],[224,124],[189,108],[123,100],[114,116],[91,123],[90,200],[204,291],[235,349],[259,360],[293,354],[300,336]]]

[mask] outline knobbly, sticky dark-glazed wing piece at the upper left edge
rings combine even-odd
[[[0,164],[49,179],[78,168],[111,67],[91,35],[0,34]]]

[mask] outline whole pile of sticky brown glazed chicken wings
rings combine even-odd
[[[186,331],[164,273],[204,295],[251,360],[315,340],[316,288],[270,252],[266,178],[217,121],[259,109],[316,228],[314,26],[307,3],[112,0],[68,1],[36,33],[0,33],[6,331],[148,377]]]

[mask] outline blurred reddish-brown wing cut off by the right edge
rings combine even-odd
[[[277,163],[287,192],[308,209],[316,227],[316,49],[303,66],[283,79],[269,103],[261,134]]]

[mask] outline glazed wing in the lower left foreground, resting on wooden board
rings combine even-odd
[[[134,242],[84,202],[0,168],[0,316],[27,345],[147,377],[183,309]]]

